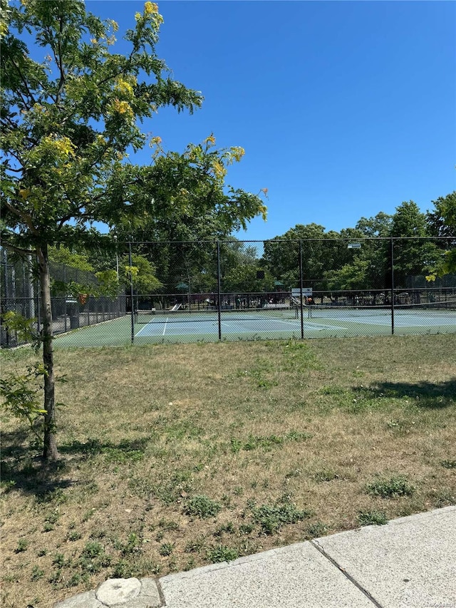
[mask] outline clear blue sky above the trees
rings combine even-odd
[[[160,110],[147,131],[184,150],[214,133],[240,145],[227,182],[268,188],[268,220],[237,237],[268,239],[296,224],[326,230],[421,210],[455,190],[456,4],[451,1],[179,1],[158,55],[202,91],[194,115]],[[89,0],[132,26],[140,1]],[[135,162],[149,163],[146,148]]]

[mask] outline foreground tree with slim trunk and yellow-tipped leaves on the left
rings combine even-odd
[[[4,246],[38,259],[43,456],[56,459],[49,247],[75,241],[90,247],[102,239],[90,222],[113,225],[125,215],[142,215],[150,205],[140,195],[143,170],[125,162],[128,151],[146,141],[138,122],[164,105],[192,112],[202,96],[170,78],[157,56],[163,19],[152,2],[135,14],[125,54],[113,52],[117,24],[78,0],[23,0],[3,19],[1,238]],[[36,48],[45,50],[42,63],[33,58]],[[128,183],[130,199],[112,196],[119,182]]]

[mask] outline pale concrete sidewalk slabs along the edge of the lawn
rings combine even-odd
[[[456,507],[170,574],[55,608],[456,608]]]

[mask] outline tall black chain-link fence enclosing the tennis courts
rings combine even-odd
[[[53,297],[56,346],[456,333],[456,275],[426,278],[455,240],[119,243],[125,293]],[[2,313],[39,319],[30,273],[1,262]],[[51,269],[66,283],[78,272]]]

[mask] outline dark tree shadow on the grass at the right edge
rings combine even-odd
[[[381,382],[371,389],[373,396],[383,398],[410,397],[416,405],[427,409],[442,409],[456,404],[456,379],[446,382]]]

